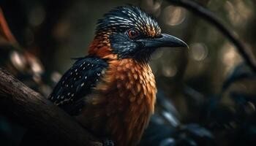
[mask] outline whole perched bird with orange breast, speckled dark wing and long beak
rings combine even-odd
[[[117,7],[98,21],[89,55],[61,77],[50,100],[95,135],[138,145],[154,112],[157,89],[148,61],[157,47],[187,44],[162,34],[140,8]]]

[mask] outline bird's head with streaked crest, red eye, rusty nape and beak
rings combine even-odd
[[[89,55],[148,61],[158,47],[187,47],[187,44],[169,34],[162,34],[157,21],[139,7],[117,7],[98,21]]]

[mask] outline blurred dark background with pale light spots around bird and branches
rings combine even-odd
[[[15,39],[0,36],[0,67],[48,96],[71,58],[87,55],[97,20],[113,7],[133,4],[153,15],[162,32],[189,45],[189,51],[163,49],[152,56],[157,111],[140,145],[256,145],[255,72],[222,32],[170,1],[1,0]],[[256,53],[256,1],[195,2]],[[0,116],[0,145],[19,145],[24,132]]]

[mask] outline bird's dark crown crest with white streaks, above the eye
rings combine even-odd
[[[106,13],[98,21],[97,34],[109,33],[110,31],[126,31],[129,28],[135,28],[148,37],[161,34],[161,29],[156,20],[139,7],[131,5],[116,7],[116,9]]]

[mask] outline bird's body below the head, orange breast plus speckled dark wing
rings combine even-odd
[[[86,57],[64,74],[50,100],[97,136],[130,146],[138,144],[148,125],[156,92],[146,62]]]

